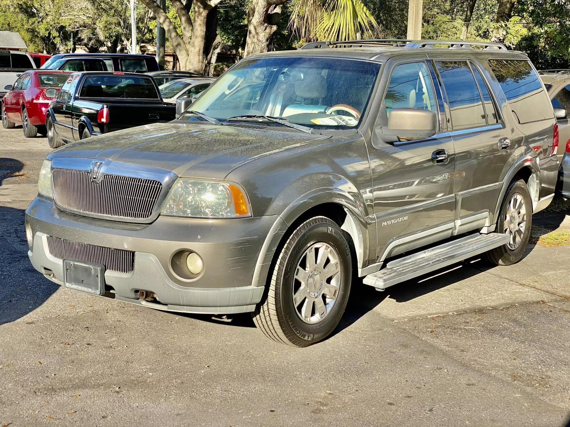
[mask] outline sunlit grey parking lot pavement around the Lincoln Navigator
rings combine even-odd
[[[296,349],[249,315],[164,313],[45,280],[27,260],[23,210],[49,150],[21,129],[0,129],[0,143],[0,425],[568,422],[567,246],[384,292],[357,284],[336,334]],[[535,240],[565,229],[570,204],[555,208],[535,216]]]

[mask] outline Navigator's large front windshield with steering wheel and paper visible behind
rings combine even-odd
[[[192,110],[220,121],[264,115],[317,129],[353,128],[367,108],[379,70],[378,63],[337,58],[243,60]]]

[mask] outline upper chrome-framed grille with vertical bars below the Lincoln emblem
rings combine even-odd
[[[51,174],[60,207],[101,216],[146,219],[162,189],[158,181],[132,176],[103,175],[95,182],[87,171],[58,167]]]

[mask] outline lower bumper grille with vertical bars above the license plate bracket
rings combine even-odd
[[[135,266],[135,252],[124,249],[104,248],[53,236],[47,236],[47,247],[51,255],[60,260],[69,258],[103,264],[105,269],[115,272],[130,273]]]

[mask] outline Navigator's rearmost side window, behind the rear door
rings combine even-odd
[[[529,61],[502,59],[489,64],[519,123],[552,118],[548,97]]]

